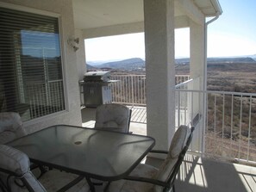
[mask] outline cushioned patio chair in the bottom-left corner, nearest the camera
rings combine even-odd
[[[90,188],[83,177],[59,170],[47,171],[40,180],[29,169],[28,156],[11,146],[0,145],[0,189],[13,192],[56,192],[66,183],[73,182],[73,192],[86,192]],[[83,180],[82,180],[83,179]]]

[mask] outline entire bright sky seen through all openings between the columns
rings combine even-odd
[[[256,0],[219,0],[223,13],[208,27],[208,57],[256,54]],[[176,58],[190,56],[189,29],[176,29]],[[144,34],[85,40],[86,60],[145,58]],[[97,54],[96,54],[97,53]]]

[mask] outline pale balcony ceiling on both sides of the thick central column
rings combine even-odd
[[[183,9],[183,6],[186,8]],[[188,7],[194,7],[205,16],[215,16],[222,12],[218,0],[176,0],[175,16],[188,15]],[[73,9],[75,28],[79,29],[103,28],[144,20],[143,0],[73,0]]]

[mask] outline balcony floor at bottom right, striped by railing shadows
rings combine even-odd
[[[187,155],[178,173],[178,191],[256,191],[256,171],[241,164]],[[179,190],[180,189],[180,190]]]

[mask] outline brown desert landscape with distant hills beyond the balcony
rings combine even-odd
[[[145,61],[136,58],[89,68],[113,74],[145,75]],[[190,60],[176,59],[175,69],[177,75],[189,75]],[[256,59],[212,58],[208,59],[207,71],[207,90],[225,91],[228,95],[208,95],[205,151],[214,158],[224,157],[234,162],[256,161]],[[251,96],[241,97],[240,93]]]

